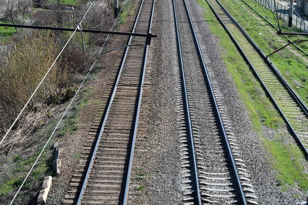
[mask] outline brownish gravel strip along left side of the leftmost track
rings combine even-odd
[[[138,1],[133,2],[132,9],[136,8]],[[132,24],[132,16],[127,18],[127,23],[123,24],[119,31],[127,31],[128,26]],[[110,36],[105,50],[113,49],[122,44],[124,36]],[[98,51],[101,47],[98,47]],[[107,81],[111,74],[113,64],[117,59],[118,51],[114,51],[99,59],[93,70],[100,69],[94,80],[86,84],[86,87],[91,87],[93,92],[88,96],[90,99],[87,106],[78,111],[80,120],[78,122],[78,130],[73,133],[66,133],[62,139],[59,140],[60,159],[62,159],[61,173],[54,177],[51,183],[51,188],[47,198],[47,204],[61,204],[66,190],[69,188],[69,182],[74,174],[76,166],[79,162],[79,156],[86,142],[92,121],[94,120],[99,102],[102,99],[106,88]],[[94,59],[93,59],[94,60]]]

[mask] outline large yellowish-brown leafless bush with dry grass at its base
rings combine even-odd
[[[10,127],[53,63],[59,53],[56,42],[55,35],[50,32],[33,32],[31,36],[24,37],[7,55],[3,55],[0,65],[0,135]],[[23,117],[31,116],[30,118],[36,119],[33,123],[37,123],[40,118],[35,118],[32,114],[44,111],[45,107],[39,105],[50,104],[54,96],[62,92],[61,88],[66,86],[67,78],[67,69],[60,68],[59,63],[55,64],[29,103]],[[29,126],[35,127],[26,123],[27,117],[23,117],[10,136],[22,133],[27,135],[30,133]],[[22,127],[23,131],[17,129]]]

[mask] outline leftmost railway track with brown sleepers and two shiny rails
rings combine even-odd
[[[150,33],[153,0],[142,0],[129,32]],[[119,51],[102,108],[63,203],[126,204],[144,83],[146,38],[130,36]]]

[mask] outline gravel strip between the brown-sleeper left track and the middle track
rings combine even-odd
[[[174,31],[171,1],[157,0],[128,204],[182,204]]]

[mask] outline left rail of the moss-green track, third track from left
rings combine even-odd
[[[246,63],[249,65],[249,67],[251,67],[254,71],[255,76],[259,79],[263,89],[265,90],[265,92],[267,93],[267,95],[269,96],[269,98],[272,100],[274,106],[279,110],[280,114],[282,115],[284,121],[286,122],[286,124],[291,128],[292,133],[294,134],[294,136],[296,137],[296,140],[298,141],[298,143],[300,144],[300,147],[302,148],[302,150],[304,151],[304,154],[306,157],[308,157],[308,151],[305,148],[305,146],[303,145],[302,141],[300,140],[300,138],[298,137],[298,135],[296,134],[295,130],[293,129],[293,127],[291,126],[290,122],[287,120],[287,118],[285,117],[285,115],[283,114],[282,110],[280,109],[280,107],[278,106],[278,104],[276,103],[276,100],[274,99],[274,97],[272,96],[272,94],[269,92],[269,90],[266,88],[263,80],[261,79],[261,77],[259,76],[259,74],[257,73],[256,69],[254,68],[254,66],[252,65],[251,61],[248,59],[248,57],[246,56],[246,54],[244,53],[244,51],[242,50],[242,48],[240,47],[240,45],[237,43],[237,41],[235,40],[234,36],[232,35],[232,33],[228,30],[228,28],[226,27],[226,25],[223,23],[222,19],[219,17],[219,15],[217,14],[217,12],[214,10],[214,8],[211,6],[211,4],[208,2],[208,0],[206,0],[206,2],[208,3],[210,9],[213,11],[213,13],[215,14],[215,16],[217,17],[217,19],[219,20],[219,22],[221,23],[222,27],[226,30],[227,34],[230,36],[232,42],[235,44],[235,46],[237,47],[238,51],[242,54],[242,57],[245,59]],[[217,0],[216,0],[217,2]]]

